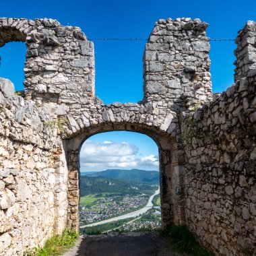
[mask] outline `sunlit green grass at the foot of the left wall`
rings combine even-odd
[[[62,234],[56,234],[46,240],[43,248],[34,248],[34,251],[24,253],[24,256],[57,256],[75,245],[79,235],[73,230],[65,229]]]

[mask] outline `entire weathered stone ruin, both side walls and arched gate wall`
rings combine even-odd
[[[0,79],[0,255],[78,228],[79,149],[117,130],[158,144],[163,226],[187,224],[217,255],[256,254],[256,23],[238,32],[235,84],[218,95],[207,26],[156,22],[143,100],[104,105],[95,97],[94,45],[79,28],[0,19],[0,46],[27,49],[24,94]]]

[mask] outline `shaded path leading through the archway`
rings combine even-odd
[[[180,256],[155,232],[80,236],[64,256]]]

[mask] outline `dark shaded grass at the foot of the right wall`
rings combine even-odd
[[[192,256],[214,256],[210,249],[199,245],[195,236],[185,225],[170,226],[162,231],[162,235],[179,253],[187,253]]]

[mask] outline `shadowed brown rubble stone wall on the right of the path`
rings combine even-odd
[[[218,255],[255,255],[255,22],[236,44],[235,84],[184,116],[185,222]]]

